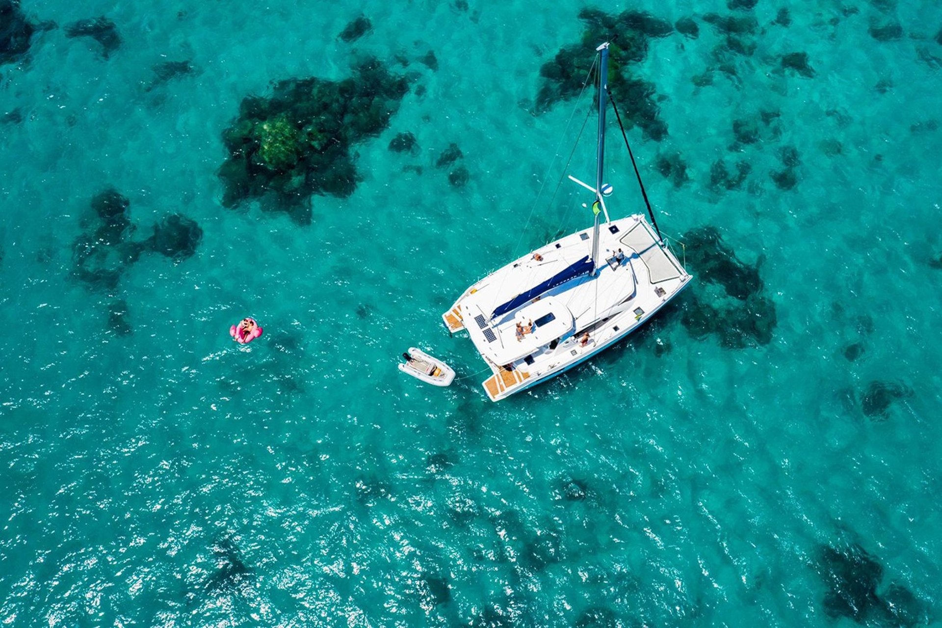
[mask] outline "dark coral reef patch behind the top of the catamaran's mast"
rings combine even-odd
[[[647,56],[648,41],[667,37],[674,32],[674,26],[637,10],[609,15],[595,8],[584,8],[579,12],[579,19],[586,25],[582,41],[563,47],[540,69],[542,81],[536,112],[576,97],[593,65],[593,49],[602,41],[611,41],[609,90],[624,112],[623,120],[628,126],[640,126],[645,137],[663,140],[667,136],[667,124],[659,117],[655,85],[632,74],[631,66]],[[685,23],[684,27],[689,35],[690,25]],[[614,35],[617,39],[613,39]]]

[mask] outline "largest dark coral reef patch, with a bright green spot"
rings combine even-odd
[[[219,169],[222,204],[271,196],[274,208],[310,222],[313,194],[353,193],[351,147],[379,135],[407,91],[405,77],[369,59],[341,81],[290,78],[268,97],[246,97],[222,134],[229,153]]]

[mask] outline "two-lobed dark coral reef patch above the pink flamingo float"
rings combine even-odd
[[[200,225],[179,214],[154,225],[150,237],[136,239],[137,226],[131,222],[130,207],[130,201],[113,188],[91,199],[91,215],[83,222],[83,233],[73,242],[73,275],[90,288],[115,289],[122,273],[145,252],[179,261],[192,256],[203,240]],[[116,320],[114,316],[112,321]]]

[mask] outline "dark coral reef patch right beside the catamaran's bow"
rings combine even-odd
[[[712,226],[691,230],[685,240],[690,268],[697,275],[681,319],[690,334],[714,334],[727,348],[769,344],[777,317],[775,305],[762,294],[761,258],[755,265],[740,261]]]

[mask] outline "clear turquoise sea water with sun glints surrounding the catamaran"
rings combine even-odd
[[[22,8],[31,45],[0,65],[0,620],[939,621],[942,7],[822,1],[790,25],[765,3],[630,7],[699,26],[652,38],[632,68],[668,127],[629,131],[659,223],[681,240],[714,227],[758,269],[771,338],[709,322],[705,304],[737,301],[691,238],[696,283],[670,311],[499,404],[439,317],[514,252],[589,223],[568,184],[550,202],[575,103],[532,114],[581,5]],[[371,31],[338,40],[363,12]],[[710,12],[755,16],[755,33],[727,39]],[[121,38],[107,56],[66,36],[102,15]],[[796,52],[813,75],[783,68]],[[242,99],[367,55],[413,74],[388,128],[355,145],[353,194],[314,196],[310,224],[222,207]],[[154,85],[154,65],[184,60]],[[407,131],[417,153],[389,151]],[[612,131],[609,207],[640,211]],[[463,187],[435,165],[452,142]],[[591,153],[569,172],[591,178]],[[718,160],[751,171],[727,189]],[[783,190],[771,174],[788,169]],[[195,254],[145,251],[112,286],[77,278],[73,243],[108,187],[136,237],[199,223]],[[266,334],[240,348],[228,329],[246,315]],[[410,345],[463,379],[403,377]]]

